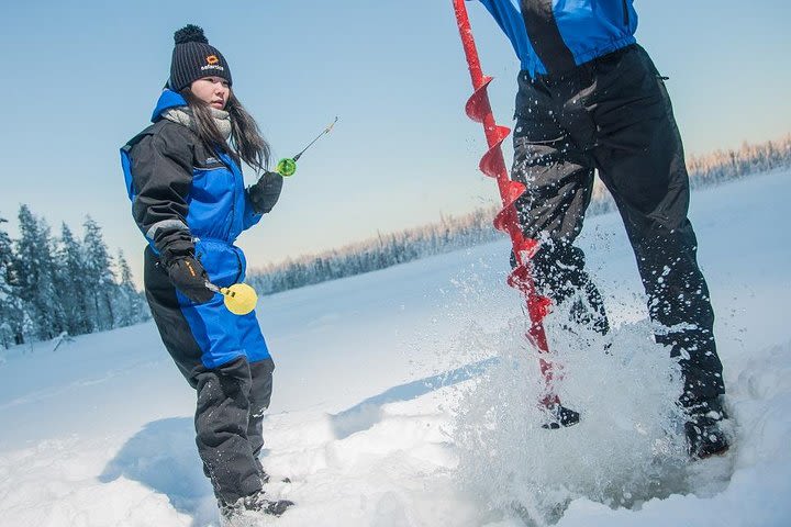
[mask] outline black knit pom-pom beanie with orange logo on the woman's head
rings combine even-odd
[[[203,77],[221,77],[231,81],[231,69],[225,57],[209,45],[203,30],[197,25],[186,25],[174,33],[174,56],[170,61],[170,80],[168,88],[181,91]]]

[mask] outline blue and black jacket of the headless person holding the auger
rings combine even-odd
[[[633,0],[480,0],[508,35],[522,69],[569,71],[635,43]]]

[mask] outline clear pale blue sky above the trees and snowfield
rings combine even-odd
[[[689,153],[791,132],[787,0],[635,3]],[[483,8],[468,7],[508,125],[519,63]],[[64,221],[81,232],[90,214],[140,279],[144,244],[118,148],[146,125],[186,23],[226,57],[276,157],[339,116],[272,214],[239,238],[252,267],[497,201],[477,171],[482,131],[464,114],[471,89],[450,0],[38,1],[1,14],[0,217],[12,236],[20,203],[55,232]]]

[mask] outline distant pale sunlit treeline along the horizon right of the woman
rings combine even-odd
[[[789,167],[791,135],[759,145],[745,143],[737,150],[691,156],[687,166],[693,189]],[[614,210],[612,197],[601,183],[597,184],[588,215]],[[379,235],[339,249],[291,258],[252,271],[247,281],[260,294],[270,294],[500,239],[504,235],[492,227],[495,213],[494,206],[478,209],[459,217],[443,217],[438,223]]]

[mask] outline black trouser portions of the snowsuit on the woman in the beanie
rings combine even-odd
[[[255,494],[266,479],[258,456],[264,446],[264,411],[271,397],[274,361],[250,363],[239,357],[219,368],[205,368],[176,290],[151,248],[145,251],[144,281],[163,343],[197,391],[196,442],[214,494],[226,504]]]

